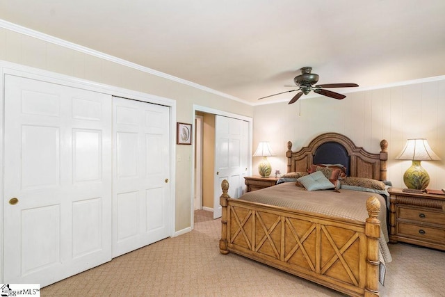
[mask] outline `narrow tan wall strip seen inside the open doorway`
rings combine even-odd
[[[213,209],[215,172],[215,115],[204,113],[202,143],[202,206]],[[219,190],[219,189],[218,189]]]

